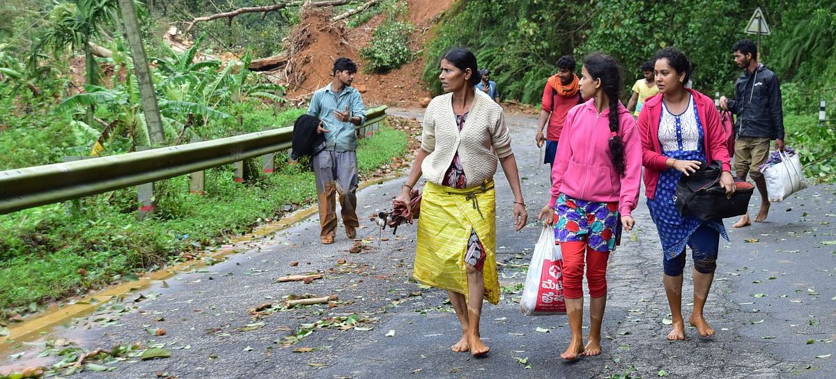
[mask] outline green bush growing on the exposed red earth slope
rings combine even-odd
[[[367,72],[389,72],[412,60],[414,54],[409,43],[415,27],[409,22],[398,21],[405,13],[405,5],[391,8],[385,21],[375,29],[369,44],[360,49],[360,57],[368,61]]]

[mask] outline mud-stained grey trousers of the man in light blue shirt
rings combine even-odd
[[[354,238],[357,220],[357,151],[324,150],[311,159],[319,196],[319,235],[334,237],[337,213],[334,195],[339,196],[345,233]]]

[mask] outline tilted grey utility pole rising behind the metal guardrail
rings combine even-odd
[[[148,59],[145,58],[145,46],[142,44],[142,32],[140,21],[136,17],[134,0],[119,0],[119,8],[125,23],[125,38],[128,39],[130,46],[130,57],[134,60],[136,81],[140,85],[142,110],[145,113],[145,124],[148,125],[148,136],[150,136],[151,145],[161,146],[166,142],[166,135],[162,128],[162,117],[160,108],[157,106]]]

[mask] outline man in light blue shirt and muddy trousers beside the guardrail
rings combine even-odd
[[[334,243],[337,213],[334,195],[339,195],[339,206],[345,235],[357,237],[357,134],[356,125],[365,122],[365,105],[358,90],[351,86],[357,64],[340,57],[334,61],[334,79],[316,90],[308,107],[308,115],[319,118],[317,132],[325,133],[325,150],[311,158],[319,195],[319,239],[324,244]]]

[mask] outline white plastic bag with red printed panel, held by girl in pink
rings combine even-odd
[[[526,315],[565,315],[563,298],[563,255],[554,243],[554,228],[543,227],[528,264],[520,308]]]

